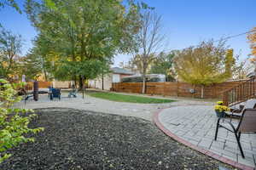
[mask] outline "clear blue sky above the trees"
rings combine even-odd
[[[23,10],[24,0],[16,0]],[[154,7],[162,17],[163,31],[166,35],[164,50],[188,48],[203,40],[230,37],[250,31],[256,27],[256,0],[143,0]],[[14,8],[0,8],[0,23],[16,34],[20,34],[24,42],[22,54],[32,48],[32,39],[37,31],[27,20],[26,13],[19,14]],[[250,54],[247,35],[230,38],[227,41],[240,59]],[[127,62],[129,54],[118,54],[114,57],[114,66],[119,62]]]

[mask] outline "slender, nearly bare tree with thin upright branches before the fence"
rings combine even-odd
[[[143,75],[143,94],[148,66],[157,57],[156,53],[162,48],[164,35],[161,31],[161,17],[156,14],[154,8],[143,8],[140,17],[141,28],[138,32],[138,51],[134,55],[134,64]]]

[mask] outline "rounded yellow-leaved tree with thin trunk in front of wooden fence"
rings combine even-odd
[[[175,57],[177,76],[184,82],[201,85],[201,98],[204,87],[212,83],[224,82],[232,77],[235,65],[233,50],[227,49],[223,41],[201,42],[196,47],[185,48]]]

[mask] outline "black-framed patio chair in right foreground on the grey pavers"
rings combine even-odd
[[[237,126],[226,120],[220,123],[220,120],[221,118],[218,118],[214,140],[216,140],[218,136],[218,127],[223,127],[231,133],[234,133],[236,142],[241,152],[241,157],[244,158],[244,154],[241,149],[240,137],[241,133],[256,133],[256,109],[244,109],[241,113],[241,117]]]

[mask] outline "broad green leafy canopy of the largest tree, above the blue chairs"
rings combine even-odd
[[[65,77],[84,82],[100,74],[102,60],[134,49],[138,8],[131,1],[125,4],[105,0],[26,2],[26,13],[40,34],[37,41],[48,42],[39,46],[48,49],[45,56],[53,61],[55,78],[63,79],[66,71]]]

